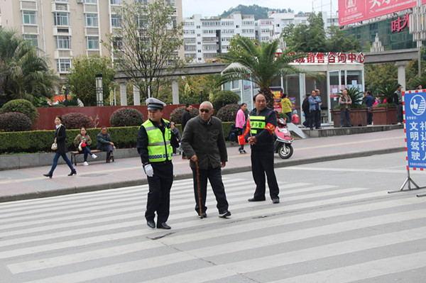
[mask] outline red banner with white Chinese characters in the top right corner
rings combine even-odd
[[[339,0],[339,25],[403,11],[416,4],[417,0]],[[426,4],[426,0],[422,0],[422,4]]]

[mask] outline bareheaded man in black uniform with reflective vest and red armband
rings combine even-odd
[[[275,111],[266,107],[266,98],[263,94],[256,94],[253,98],[255,109],[247,119],[244,138],[251,145],[251,172],[256,191],[249,201],[265,201],[265,174],[268,179],[269,195],[273,204],[279,204],[277,179],[273,169],[274,131],[277,126]]]

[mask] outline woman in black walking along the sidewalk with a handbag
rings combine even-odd
[[[72,167],[71,161],[67,157],[67,147],[65,146],[65,141],[67,140],[67,133],[65,133],[65,126],[62,125],[62,117],[56,116],[55,117],[55,143],[52,145],[52,150],[55,150],[55,157],[53,157],[53,164],[52,168],[50,168],[50,171],[48,174],[43,174],[45,177],[52,178],[53,171],[55,171],[56,166],[58,165],[59,157],[62,156],[63,160],[67,162],[68,167],[70,167],[70,174],[68,176],[72,176],[77,174],[77,171],[75,171],[75,168]]]

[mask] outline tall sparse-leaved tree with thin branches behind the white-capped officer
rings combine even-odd
[[[121,27],[109,35],[107,47],[114,53],[116,67],[139,87],[141,99],[158,97],[160,86],[182,62],[178,50],[183,43],[182,23],[176,23],[175,9],[155,0],[150,4],[124,3],[119,10]]]

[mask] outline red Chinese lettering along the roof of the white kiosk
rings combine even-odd
[[[282,53],[276,53],[279,56]],[[295,54],[295,53],[292,53]],[[361,63],[363,64],[365,57],[363,53],[344,53],[344,52],[309,52],[306,57],[299,58],[294,63],[306,64],[346,64]]]

